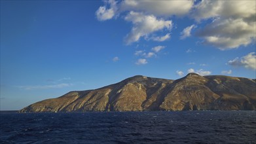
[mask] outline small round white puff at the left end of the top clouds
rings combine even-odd
[[[107,9],[107,5],[110,5],[110,8]],[[105,6],[101,6],[96,11],[96,16],[98,20],[110,20],[115,16],[115,12],[117,11],[117,2],[115,0],[105,1]]]

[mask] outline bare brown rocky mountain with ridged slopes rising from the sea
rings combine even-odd
[[[137,75],[96,90],[39,101],[20,112],[255,109],[255,79],[189,73],[175,81]]]

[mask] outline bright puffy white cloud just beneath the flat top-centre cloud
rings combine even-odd
[[[132,22],[132,31],[126,35],[126,44],[131,44],[139,41],[141,37],[149,37],[153,32],[167,29],[172,29],[172,20],[164,20],[156,18],[154,15],[145,15],[141,12],[131,11],[124,20]]]

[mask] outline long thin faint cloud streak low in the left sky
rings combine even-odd
[[[72,86],[73,84],[61,83],[61,84],[51,84],[51,85],[36,85],[36,86],[18,86],[24,90],[41,90],[41,89],[50,89],[50,88],[64,88]]]

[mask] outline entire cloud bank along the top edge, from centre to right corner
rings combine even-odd
[[[124,41],[127,45],[147,41],[166,41],[171,37],[173,21],[170,18],[188,17],[195,24],[184,27],[180,39],[196,37],[203,44],[220,50],[247,46],[256,39],[256,1],[104,1],[96,11],[98,20],[123,18],[132,23]],[[206,23],[201,27],[197,24]]]

